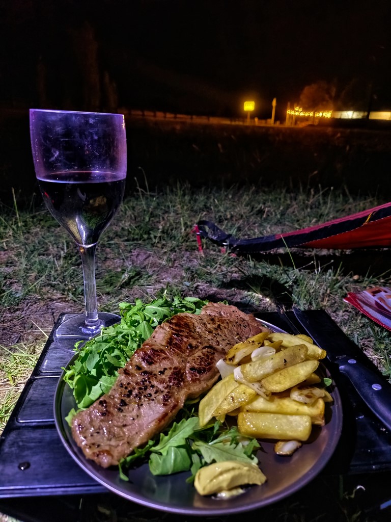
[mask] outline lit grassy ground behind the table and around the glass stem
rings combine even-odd
[[[247,259],[222,253],[210,242],[203,243],[200,253],[193,233],[194,223],[210,219],[236,236],[256,237],[381,203],[380,198],[321,187],[277,191],[178,184],[158,193],[138,188],[97,248],[100,310],[118,311],[120,301],[150,300],[165,288],[173,294],[226,299],[248,311],[274,311],[276,300],[291,296],[302,307],[324,308],[391,379],[390,333],[343,301],[349,291],[391,286],[386,250],[357,255],[280,249]],[[1,431],[58,314],[83,310],[83,282],[75,245],[38,198],[26,210],[3,206],[0,266]]]

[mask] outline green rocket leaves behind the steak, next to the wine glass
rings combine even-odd
[[[65,369],[64,381],[72,388],[77,407],[88,408],[113,386],[118,369],[148,339],[157,325],[181,312],[198,314],[207,301],[197,298],[168,297],[144,304],[120,303],[121,322],[104,328],[102,333],[78,343],[78,357]]]

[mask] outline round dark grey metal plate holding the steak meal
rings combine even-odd
[[[72,358],[68,366],[73,364],[76,357]],[[261,441],[257,457],[267,477],[265,484],[250,487],[242,495],[228,500],[214,500],[199,495],[193,485],[186,482],[189,473],[154,477],[148,465],[144,464],[130,470],[129,482],[125,482],[119,479],[117,468],[103,469],[86,459],[64,420],[71,408],[76,408],[76,402],[63,377],[64,374],[56,389],[54,418],[59,436],[70,455],[108,490],[130,501],[165,512],[218,516],[250,511],[282,500],[314,479],[324,468],[333,455],[342,428],[341,399],[338,390],[334,388],[334,402],[332,405],[326,404],[326,425],[313,426],[311,441],[304,443],[294,455],[278,456],[273,452],[274,442]]]

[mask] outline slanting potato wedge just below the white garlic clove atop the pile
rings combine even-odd
[[[241,365],[243,377],[249,383],[260,381],[267,375],[271,375],[278,370],[282,370],[292,364],[305,361],[307,359],[308,348],[305,345],[292,346],[285,350],[276,352],[274,355]]]

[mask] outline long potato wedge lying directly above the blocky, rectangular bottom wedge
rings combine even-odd
[[[312,424],[324,425],[324,400],[317,399],[312,405],[297,402],[290,397],[277,397],[272,395],[270,399],[256,397],[254,400],[242,406],[240,411],[253,411],[258,413],[283,413],[284,415],[309,415]]]

